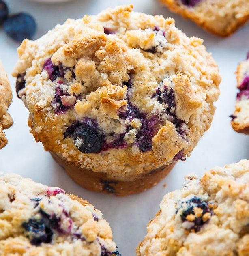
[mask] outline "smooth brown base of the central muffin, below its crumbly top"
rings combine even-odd
[[[106,194],[115,194],[116,196],[128,196],[150,189],[157,185],[175,165],[175,162],[173,162],[167,166],[161,166],[146,175],[139,176],[134,181],[112,181],[109,180],[103,172],[93,172],[78,166],[73,166],[55,153],[50,151],[50,154],[53,159],[65,169],[67,174],[82,187]]]

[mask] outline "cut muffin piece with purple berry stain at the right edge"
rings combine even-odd
[[[249,52],[237,69],[237,100],[231,124],[234,131],[249,134]]]

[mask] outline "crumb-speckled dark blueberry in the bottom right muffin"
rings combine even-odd
[[[187,204],[187,206],[186,206]],[[194,230],[195,232],[200,231],[200,228],[208,222],[209,218],[203,219],[203,215],[205,213],[213,214],[212,210],[209,208],[208,203],[203,201],[197,196],[194,196],[190,200],[186,202],[182,202],[181,207],[184,207],[182,214],[180,215],[182,222],[189,221],[188,216],[194,215],[195,219],[191,221],[193,225],[189,228],[190,230]],[[195,214],[195,207],[199,208],[201,213],[200,215]],[[178,213],[179,209],[176,210],[176,214]]]

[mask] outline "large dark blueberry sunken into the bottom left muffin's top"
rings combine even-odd
[[[22,226],[28,232],[28,238],[32,245],[52,242],[53,231],[47,218],[31,218],[28,222],[24,222]]]

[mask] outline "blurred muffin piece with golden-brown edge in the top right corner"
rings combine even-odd
[[[160,0],[174,13],[227,37],[249,19],[248,0]]]

